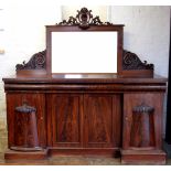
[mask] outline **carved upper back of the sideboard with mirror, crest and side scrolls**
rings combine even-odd
[[[46,25],[46,50],[18,64],[17,73],[153,75],[152,64],[122,49],[122,35],[124,24],[101,22],[82,8],[75,18]]]

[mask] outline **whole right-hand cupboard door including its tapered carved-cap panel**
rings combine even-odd
[[[124,150],[162,148],[162,93],[124,95]]]

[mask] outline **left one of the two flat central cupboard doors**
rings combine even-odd
[[[81,147],[82,145],[82,96],[72,94],[53,94],[49,96],[52,116],[53,147]],[[51,138],[51,136],[50,136]]]

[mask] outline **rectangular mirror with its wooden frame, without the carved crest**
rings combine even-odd
[[[46,26],[46,68],[50,74],[118,73],[122,26]],[[119,60],[120,58],[120,60]]]

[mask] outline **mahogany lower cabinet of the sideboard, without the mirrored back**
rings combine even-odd
[[[165,163],[165,78],[114,74],[66,78],[65,74],[52,74],[3,82],[9,143],[6,159],[120,154],[122,163]]]

